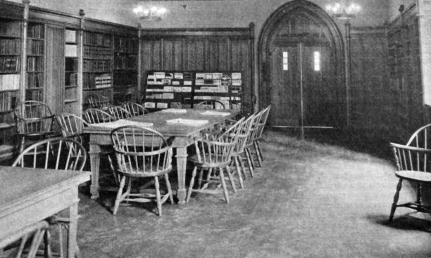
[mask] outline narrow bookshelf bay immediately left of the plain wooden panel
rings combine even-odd
[[[27,25],[27,70],[25,100],[45,101],[44,96],[44,44],[45,25],[28,22]]]

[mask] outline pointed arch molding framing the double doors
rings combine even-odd
[[[309,15],[313,16],[318,20],[321,20],[323,24],[327,26],[332,36],[332,44],[334,44],[336,49],[336,60],[337,60],[337,73],[340,78],[340,86],[344,87],[344,42],[342,34],[337,27],[335,21],[328,15],[320,6],[313,4],[309,1],[304,0],[294,0],[280,6],[274,13],[263,24],[261,33],[258,40],[258,93],[259,93],[259,106],[270,104],[270,89],[268,84],[269,72],[269,49],[270,49],[270,37],[276,29],[279,22],[292,13],[292,11],[297,11],[302,9]],[[346,101],[346,99],[344,99]]]

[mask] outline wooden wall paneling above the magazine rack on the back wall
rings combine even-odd
[[[144,78],[151,70],[231,70],[242,72],[244,91],[250,96],[254,62],[251,31],[249,27],[140,30],[142,85],[145,85]],[[251,98],[249,96],[246,98]]]

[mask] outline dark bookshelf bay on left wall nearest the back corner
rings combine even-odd
[[[124,101],[126,93],[137,91],[139,41],[135,37],[114,35],[114,100]]]

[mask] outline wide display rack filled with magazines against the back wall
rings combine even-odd
[[[216,100],[225,108],[242,109],[243,91],[242,72],[149,71],[144,107],[193,108],[202,101]]]

